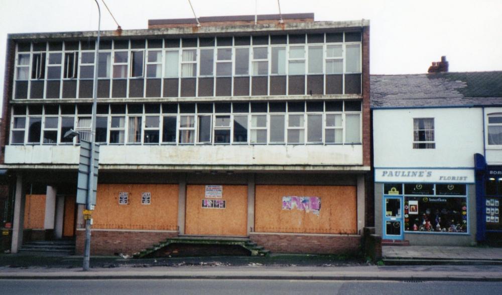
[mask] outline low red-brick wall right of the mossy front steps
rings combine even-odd
[[[348,235],[250,233],[249,238],[271,252],[346,254],[360,251],[361,237]]]

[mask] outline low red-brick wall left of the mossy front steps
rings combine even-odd
[[[178,232],[158,231],[91,231],[91,255],[133,254],[151,247],[168,237],[176,237]],[[83,254],[85,231],[77,230],[75,253]]]

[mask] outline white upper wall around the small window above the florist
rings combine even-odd
[[[413,149],[414,118],[434,118],[435,149]],[[482,109],[376,109],[373,144],[376,168],[473,167],[483,154]]]

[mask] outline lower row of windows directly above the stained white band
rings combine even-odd
[[[74,129],[88,135],[89,113],[89,105],[14,107],[11,144],[74,143],[64,134]],[[360,101],[99,105],[97,113],[99,143],[361,142]]]

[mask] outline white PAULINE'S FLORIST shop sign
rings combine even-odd
[[[375,182],[474,183],[474,169],[376,168]]]

